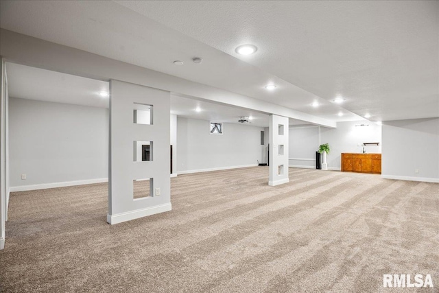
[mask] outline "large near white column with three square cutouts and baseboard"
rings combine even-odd
[[[170,93],[117,80],[110,81],[110,92],[107,222],[170,211]],[[152,106],[152,124],[134,123],[134,108],[139,104]],[[152,142],[152,161],[134,161],[137,141]],[[134,199],[133,180],[145,178],[150,178],[149,196]]]

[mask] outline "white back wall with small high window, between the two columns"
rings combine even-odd
[[[262,161],[263,128],[224,124],[224,134],[210,134],[209,121],[177,119],[178,173],[257,165]]]

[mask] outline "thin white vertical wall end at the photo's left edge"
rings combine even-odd
[[[5,248],[5,211],[6,211],[6,108],[5,108],[5,62],[1,59],[1,98],[0,98],[0,249]]]

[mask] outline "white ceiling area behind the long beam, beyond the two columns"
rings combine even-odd
[[[99,95],[101,92],[109,92],[108,82],[11,62],[6,62],[6,70],[10,97],[101,108],[109,106],[109,98]],[[200,112],[197,112],[196,108],[200,108]],[[242,116],[251,116],[251,123],[246,125],[268,127],[266,114],[176,94],[171,94],[171,114],[232,124],[239,124],[238,119]],[[289,122],[290,125],[306,124],[295,119],[290,119]]]

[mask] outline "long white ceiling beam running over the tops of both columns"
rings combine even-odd
[[[329,119],[3,29],[0,31],[0,55],[6,61],[22,65],[97,80],[121,80],[310,124],[336,127],[335,121]]]

